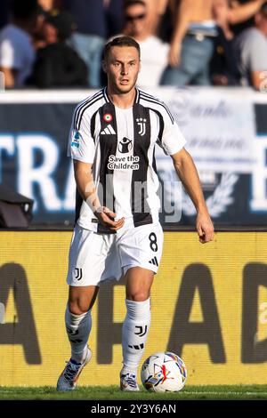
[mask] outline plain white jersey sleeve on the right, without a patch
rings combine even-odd
[[[161,125],[158,145],[166,155],[172,156],[184,147],[186,140],[168,109],[162,113]]]

